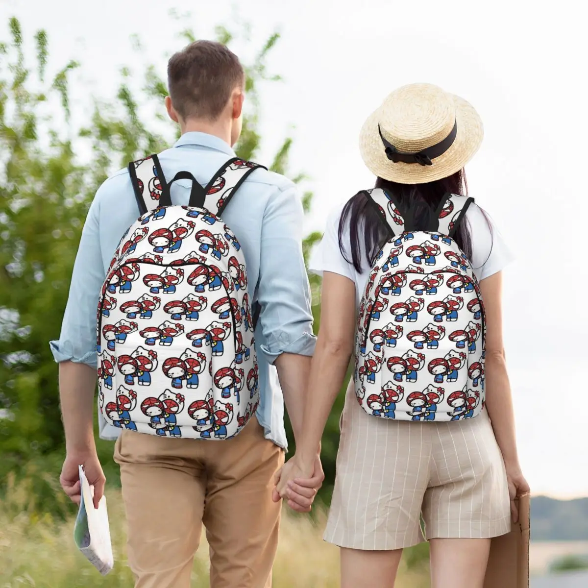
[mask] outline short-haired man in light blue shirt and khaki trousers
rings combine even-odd
[[[159,155],[163,173],[173,178],[187,170],[206,185],[235,156],[231,146],[242,126],[242,66],[225,46],[198,41],[169,60],[168,82],[165,105],[182,136]],[[175,182],[173,203],[186,205],[190,187]],[[61,338],[51,342],[59,362],[66,436],[61,483],[74,502],[79,502],[79,464],[95,486],[96,504],[104,489],[92,432],[96,308],[119,239],[137,217],[125,169],[103,183],[89,209]],[[137,588],[188,587],[202,523],[211,547],[212,588],[271,585],[280,516],[280,504],[272,500],[273,476],[286,448],[282,392],[296,436],[315,346],[300,196],[288,179],[257,169],[223,220],[242,246],[253,302],[261,309],[255,333],[259,409],[238,436],[216,442],[144,435],[101,419],[102,437],[119,435],[115,460],[121,466],[128,557]],[[322,477],[317,459],[314,479],[298,489],[302,494],[292,492],[289,505],[308,511]]]

